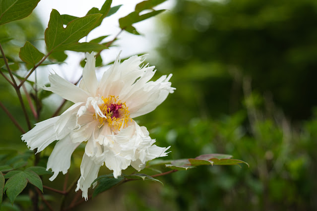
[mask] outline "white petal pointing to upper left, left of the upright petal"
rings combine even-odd
[[[87,98],[91,96],[88,92],[76,87],[56,73],[51,73],[51,75],[49,75],[49,80],[51,82],[51,87],[44,87],[44,90],[56,93],[63,99],[73,103],[86,102]]]

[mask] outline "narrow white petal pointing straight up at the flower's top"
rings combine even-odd
[[[96,58],[94,53],[86,53],[86,65],[82,71],[82,80],[79,84],[79,88],[89,92],[92,96],[95,96],[98,81],[96,77]]]

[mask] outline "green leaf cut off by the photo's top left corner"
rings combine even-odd
[[[40,0],[1,0],[0,25],[29,16]]]

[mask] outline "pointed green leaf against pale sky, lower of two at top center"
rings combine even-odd
[[[139,15],[139,12],[136,11],[131,12],[126,17],[119,19],[120,28],[125,29],[126,27],[131,26],[133,23],[137,23],[147,18],[153,17],[163,11],[165,11],[165,9],[154,10],[143,15]]]

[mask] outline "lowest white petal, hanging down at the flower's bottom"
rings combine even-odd
[[[82,197],[88,200],[88,188],[91,183],[98,177],[98,172],[101,164],[96,164],[91,158],[89,158],[85,153],[82,157],[80,172],[81,176],[77,182],[76,192],[80,189],[82,191]]]

